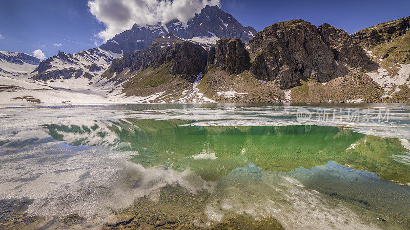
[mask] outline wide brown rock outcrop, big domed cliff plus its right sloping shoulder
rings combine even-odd
[[[282,89],[297,86],[303,78],[324,83],[345,75],[348,67],[363,71],[377,67],[345,31],[329,24],[316,28],[301,19],[265,28],[248,47],[250,72],[257,79],[277,82]]]

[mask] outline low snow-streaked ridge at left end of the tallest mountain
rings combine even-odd
[[[70,79],[72,77],[85,77],[91,79],[100,76],[109,64],[118,55],[93,48],[73,54],[66,54],[58,51],[58,54],[39,63],[33,72],[37,74],[33,80]]]

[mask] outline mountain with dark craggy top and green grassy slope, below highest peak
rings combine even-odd
[[[207,56],[199,44],[170,33],[154,38],[142,51],[129,52],[114,60],[101,77],[121,82],[122,92],[128,97],[139,97],[139,101],[179,100],[183,91],[193,90],[191,83],[207,65]]]

